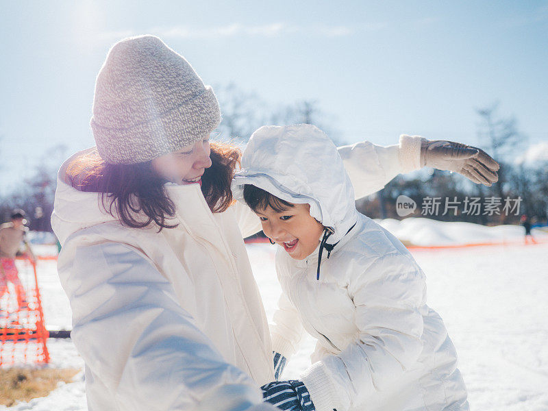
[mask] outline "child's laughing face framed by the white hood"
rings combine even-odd
[[[308,204],[293,204],[282,212],[270,206],[257,210],[266,236],[284,247],[295,260],[303,260],[318,247],[323,225],[310,216]]]

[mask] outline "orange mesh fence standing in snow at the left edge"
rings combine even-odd
[[[49,362],[36,264],[0,261],[0,366]]]

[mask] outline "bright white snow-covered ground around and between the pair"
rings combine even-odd
[[[413,220],[415,230],[423,229],[423,239],[445,237],[443,244],[497,239],[476,240],[485,234],[482,230],[497,227],[463,223],[437,226],[426,219]],[[385,223],[392,224],[398,234],[397,223]],[[511,229],[499,228],[499,234]],[[520,235],[516,232],[512,240],[521,236],[523,231]],[[433,238],[427,245],[436,244]],[[266,314],[271,318],[280,292],[273,264],[275,246],[251,244],[247,249]],[[524,245],[512,241],[507,245],[412,253],[427,275],[429,306],[443,317],[456,345],[472,410],[547,411],[548,243]],[[40,261],[38,273],[47,326],[70,328],[70,308],[55,273],[55,262]],[[301,350],[288,363],[284,378],[299,377],[309,365],[313,346],[312,338],[303,341]],[[48,347],[51,366],[82,367],[70,340],[49,340]],[[82,374],[49,397],[20,403],[9,410],[84,411]]]

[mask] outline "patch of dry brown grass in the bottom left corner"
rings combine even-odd
[[[59,382],[72,382],[79,369],[0,369],[0,405],[46,397]]]

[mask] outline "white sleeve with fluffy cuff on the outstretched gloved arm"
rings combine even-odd
[[[383,147],[369,141],[338,147],[356,199],[381,190],[400,173],[421,169],[421,137],[402,135],[399,145]]]

